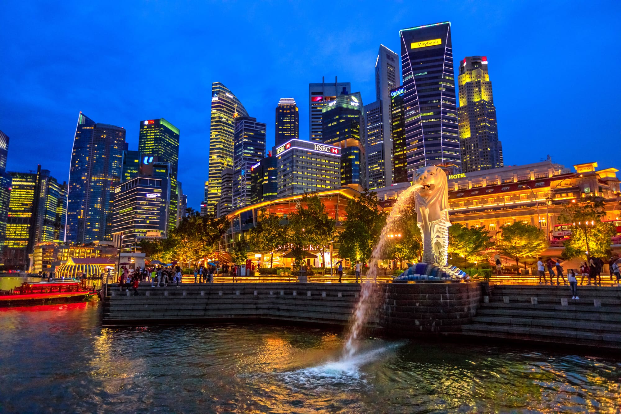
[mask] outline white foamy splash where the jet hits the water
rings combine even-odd
[[[357,352],[353,356],[343,356],[338,361],[329,361],[315,367],[283,372],[281,376],[283,382],[292,388],[318,390],[326,386],[338,386],[340,390],[355,388],[366,383],[361,367],[378,361],[383,354],[402,346],[402,344],[393,343],[378,349]]]

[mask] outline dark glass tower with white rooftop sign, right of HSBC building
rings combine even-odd
[[[341,185],[366,187],[366,122],[360,92],[340,95],[322,108],[323,142],[341,149]]]

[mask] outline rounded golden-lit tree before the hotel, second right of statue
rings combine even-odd
[[[522,221],[505,224],[501,229],[502,237],[496,243],[496,249],[514,259],[516,266],[520,258],[537,257],[548,246],[545,232]]]

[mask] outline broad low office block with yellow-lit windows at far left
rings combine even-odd
[[[37,242],[65,238],[66,183],[59,184],[49,170],[12,172],[11,198],[4,238],[4,265],[25,269]]]

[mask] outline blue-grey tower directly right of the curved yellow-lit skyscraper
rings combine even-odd
[[[265,128],[250,116],[235,118],[233,142],[233,208],[250,204],[250,171],[265,157]]]

